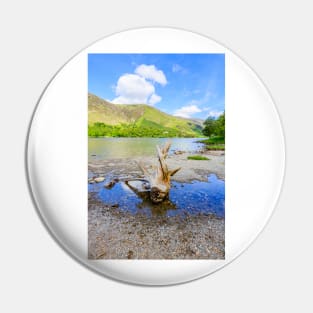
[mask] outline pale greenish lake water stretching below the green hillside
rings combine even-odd
[[[88,157],[90,160],[155,156],[156,145],[171,141],[170,154],[175,150],[197,152],[203,144],[199,138],[89,138]]]

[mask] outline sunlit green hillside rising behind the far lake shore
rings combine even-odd
[[[88,135],[200,137],[202,121],[175,117],[145,104],[122,105],[88,94]]]

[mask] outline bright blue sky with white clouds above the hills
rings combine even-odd
[[[88,91],[113,103],[146,103],[206,119],[225,108],[224,54],[89,54]]]

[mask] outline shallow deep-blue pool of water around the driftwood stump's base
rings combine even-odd
[[[139,194],[132,191],[124,182],[116,183],[111,189],[106,189],[105,183],[88,184],[88,190],[96,192],[98,198],[106,205],[118,205],[117,210],[148,216],[185,216],[204,213],[224,217],[225,182],[218,179],[215,174],[209,175],[207,182],[172,181],[169,200],[161,204],[151,203],[149,193],[142,188],[141,182],[130,183],[140,190]]]

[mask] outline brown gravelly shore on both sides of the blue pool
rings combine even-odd
[[[207,181],[210,173],[224,179],[222,152],[205,152],[209,161],[187,160],[188,153],[171,155],[169,168],[182,169],[173,179],[180,182]],[[90,177],[138,177],[137,162],[149,167],[153,158],[90,161]],[[132,215],[99,201],[88,199],[88,257],[90,259],[224,259],[224,219],[214,215]]]

